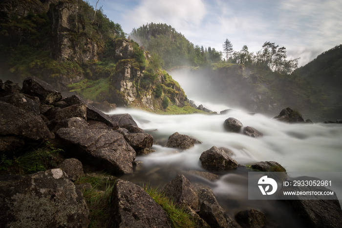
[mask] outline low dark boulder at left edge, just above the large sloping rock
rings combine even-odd
[[[39,115],[40,102],[36,96],[29,96],[23,93],[14,93],[0,98],[0,101],[7,102],[26,112]]]

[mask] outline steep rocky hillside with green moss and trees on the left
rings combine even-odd
[[[185,105],[160,59],[87,2],[5,0],[0,15],[3,80],[36,76],[85,99],[151,111]]]

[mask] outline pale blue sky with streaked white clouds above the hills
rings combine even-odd
[[[95,8],[97,0],[88,0]],[[194,45],[236,51],[270,41],[285,46],[299,66],[342,44],[341,0],[99,0],[97,8],[125,33],[146,23],[166,23]]]

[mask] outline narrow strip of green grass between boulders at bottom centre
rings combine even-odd
[[[194,228],[196,224],[191,220],[191,215],[183,208],[176,206],[172,199],[166,197],[163,193],[144,185],[144,190],[152,197],[152,199],[163,207],[171,220],[173,228]]]

